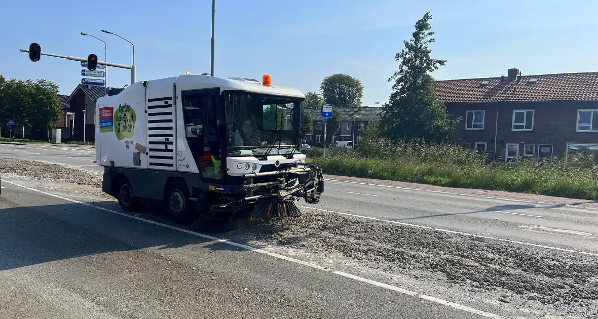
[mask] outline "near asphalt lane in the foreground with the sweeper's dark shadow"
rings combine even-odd
[[[11,183],[2,186],[0,318],[480,318]]]

